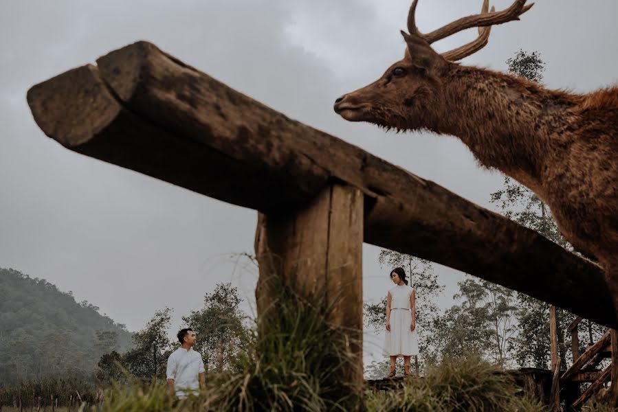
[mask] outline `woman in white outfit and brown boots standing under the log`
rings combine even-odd
[[[416,293],[408,286],[403,268],[394,268],[390,279],[395,286],[386,297],[386,336],[384,355],[390,356],[390,373],[395,377],[397,357],[404,358],[404,376],[410,375],[410,356],[419,354],[419,339],[416,330]]]

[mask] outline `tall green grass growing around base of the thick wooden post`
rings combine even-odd
[[[360,398],[342,379],[356,367],[349,334],[327,321],[333,303],[325,290],[301,295],[294,278],[273,277],[276,300],[262,314],[254,344],[229,372],[210,373],[199,397],[173,404],[164,384],[120,385],[108,391],[105,411],[353,411]],[[232,372],[235,371],[235,372]]]

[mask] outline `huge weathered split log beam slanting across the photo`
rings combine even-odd
[[[364,194],[364,242],[618,328],[599,266],[540,234],[289,119],[150,43],[97,63],[27,93],[38,126],[65,147],[266,214],[343,182]]]

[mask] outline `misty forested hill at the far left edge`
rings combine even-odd
[[[26,378],[91,376],[131,333],[45,279],[0,268],[0,386]]]

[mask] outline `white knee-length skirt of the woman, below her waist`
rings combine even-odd
[[[409,309],[390,310],[390,332],[384,335],[384,356],[414,356],[419,354],[417,330],[410,330]]]

